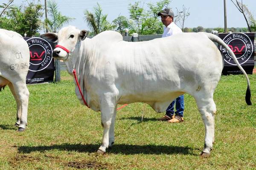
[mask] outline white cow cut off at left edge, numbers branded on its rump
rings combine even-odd
[[[0,90],[8,85],[17,103],[19,131],[26,128],[29,90],[26,75],[29,71],[29,46],[17,32],[0,29]]]

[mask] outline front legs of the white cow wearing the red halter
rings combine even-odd
[[[102,119],[102,127],[103,127],[103,138],[102,145],[99,147],[97,153],[105,153],[106,149],[109,146],[109,142],[113,140],[113,125],[114,117],[116,114],[116,101],[114,98],[109,97],[108,95],[103,97],[100,102],[101,106],[101,119]],[[111,129],[111,133],[110,133]]]

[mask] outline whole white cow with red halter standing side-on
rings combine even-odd
[[[207,33],[182,33],[145,42],[125,42],[114,31],[102,32],[92,39],[88,32],[74,26],[58,34],[41,35],[58,41],[53,57],[66,63],[72,75],[78,70],[79,85],[88,106],[101,111],[104,128],[98,153],[114,143],[114,123],[117,104],[144,102],[156,112],[164,112],[177,96],[192,95],[205,125],[205,145],[202,156],[209,156],[214,141],[213,92],[221,77],[223,59],[212,41],[232,54],[247,79],[247,104],[250,84],[244,69],[230,48],[217,36]],[[76,95],[83,100],[76,85]]]

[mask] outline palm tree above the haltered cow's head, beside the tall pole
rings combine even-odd
[[[58,4],[54,0],[47,1],[48,18],[44,20],[44,28],[49,32],[58,32],[61,27],[74,18],[66,17],[58,11]]]

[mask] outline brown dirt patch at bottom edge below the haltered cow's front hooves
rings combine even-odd
[[[74,167],[77,169],[93,169],[93,170],[103,170],[103,169],[111,169],[108,164],[102,164],[96,161],[70,161],[66,163],[68,167]]]

